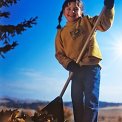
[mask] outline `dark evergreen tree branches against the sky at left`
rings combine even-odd
[[[0,8],[9,7],[17,3],[18,0],[0,0]],[[0,19],[9,19],[10,12],[0,10]],[[5,58],[4,53],[14,49],[17,45],[17,41],[11,41],[11,37],[22,34],[23,31],[28,28],[32,28],[36,24],[37,17],[32,17],[29,20],[24,20],[17,25],[5,25],[0,23],[0,57]]]

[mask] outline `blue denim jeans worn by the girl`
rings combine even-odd
[[[71,97],[75,122],[97,122],[100,66],[82,66],[72,77]]]

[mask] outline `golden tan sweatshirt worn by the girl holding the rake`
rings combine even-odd
[[[84,16],[76,22],[67,22],[66,26],[58,30],[55,39],[55,56],[64,68],[67,68],[68,63],[72,60],[77,60],[97,18],[98,16]],[[105,9],[96,30],[108,30],[113,19],[114,8]],[[79,64],[95,65],[99,64],[100,60],[102,60],[102,54],[96,40],[96,32],[94,32]]]

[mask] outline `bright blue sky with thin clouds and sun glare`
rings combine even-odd
[[[20,0],[8,8],[10,19],[0,23],[14,24],[38,16],[37,25],[22,35],[14,37],[19,46],[0,58],[0,97],[53,100],[58,96],[68,77],[68,72],[55,59],[57,18],[63,1]],[[83,1],[84,13],[98,15],[103,0]],[[122,102],[122,1],[115,3],[115,20],[107,32],[97,32],[103,60],[100,100]],[[3,8],[5,9],[5,8]],[[62,25],[65,24],[63,18]],[[64,101],[70,101],[70,85]]]

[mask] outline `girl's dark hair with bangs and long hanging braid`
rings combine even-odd
[[[63,11],[65,9],[65,7],[67,7],[71,2],[76,2],[76,4],[78,5],[78,7],[81,8],[81,11],[83,11],[83,3],[80,1],[80,0],[65,0],[63,5],[62,5],[62,10],[59,14],[59,17],[58,17],[58,26],[57,26],[57,29],[60,29],[61,28],[61,20],[62,20],[62,16],[63,16]]]

